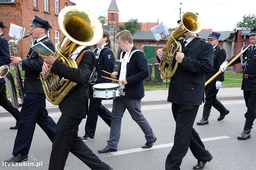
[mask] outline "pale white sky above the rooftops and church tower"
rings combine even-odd
[[[97,17],[108,15],[111,0],[70,0],[90,10]],[[129,2],[129,3],[127,3]],[[213,31],[232,31],[238,21],[248,14],[256,14],[255,1],[238,0],[116,0],[119,10],[119,22],[127,22],[131,18],[137,18],[139,22],[163,22],[167,27],[177,27],[179,8],[182,12],[198,13],[202,20],[202,28]],[[182,5],[180,5],[182,3]],[[254,6],[254,7],[253,7]]]

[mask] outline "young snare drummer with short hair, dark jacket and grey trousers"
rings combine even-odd
[[[121,57],[121,65],[118,71],[112,74],[125,86],[125,95],[113,100],[112,122],[108,145],[99,153],[116,152],[121,134],[121,121],[127,109],[132,119],[140,126],[145,134],[146,144],[142,148],[150,148],[156,141],[156,136],[141,113],[141,99],[144,97],[143,80],[148,77],[149,69],[147,59],[142,51],[138,51],[133,45],[132,35],[128,30],[122,30],[116,35],[119,47],[124,50]],[[136,53],[134,53],[136,50]]]

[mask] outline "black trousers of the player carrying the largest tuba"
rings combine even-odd
[[[93,170],[109,170],[110,166],[102,162],[78,137],[78,126],[82,119],[61,114],[56,126],[56,135],[52,143],[49,170],[64,169],[69,151]]]

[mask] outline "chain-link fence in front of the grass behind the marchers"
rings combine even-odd
[[[151,58],[147,59],[149,76],[144,80],[145,89],[161,89],[168,88],[170,80],[163,80],[160,77],[160,70],[158,69],[159,63],[157,59]],[[243,74],[239,67],[237,66],[228,67],[224,73],[225,81],[222,82],[222,86],[240,86],[242,84]],[[118,70],[120,66],[120,60],[115,60],[115,70]],[[241,66],[241,65],[240,65]]]

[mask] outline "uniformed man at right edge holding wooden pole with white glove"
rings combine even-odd
[[[243,132],[237,137],[238,140],[247,140],[251,138],[251,129],[253,121],[256,118],[256,26],[251,28],[249,33],[251,47],[246,50],[243,55],[235,60],[230,66],[237,63],[241,63],[243,80],[242,87],[247,112],[244,114],[246,119]],[[247,46],[242,48],[245,49]],[[227,64],[233,59],[231,57],[227,61],[223,62],[220,66],[220,70],[224,72],[227,68]]]

